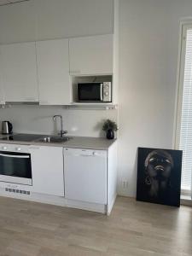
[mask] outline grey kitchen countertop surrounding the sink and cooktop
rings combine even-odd
[[[39,135],[39,137],[52,137],[54,135]],[[4,144],[20,144],[20,145],[39,145],[49,147],[64,147],[64,148],[87,148],[96,150],[108,150],[108,148],[116,141],[116,139],[108,140],[102,137],[70,137],[67,142],[64,143],[42,143],[37,140],[31,142],[23,141],[7,141],[3,140],[4,135],[0,135],[0,143]]]

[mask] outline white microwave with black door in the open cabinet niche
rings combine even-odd
[[[111,82],[79,83],[78,102],[112,102]]]

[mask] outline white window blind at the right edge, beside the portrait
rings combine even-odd
[[[179,148],[183,150],[182,189],[191,190],[192,176],[192,29],[183,34],[183,100]]]

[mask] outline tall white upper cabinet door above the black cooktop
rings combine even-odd
[[[38,102],[35,43],[1,46],[6,102]]]

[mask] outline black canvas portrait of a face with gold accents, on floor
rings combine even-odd
[[[137,201],[180,206],[182,151],[138,148]]]

